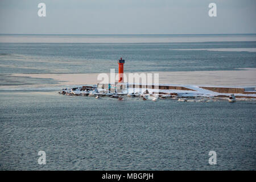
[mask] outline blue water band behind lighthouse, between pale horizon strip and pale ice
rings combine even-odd
[[[233,70],[255,68],[255,48],[256,42],[0,43],[0,71],[106,73],[121,56],[126,72]]]

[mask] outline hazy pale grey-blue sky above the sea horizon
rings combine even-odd
[[[255,0],[0,1],[1,34],[255,34],[255,19]]]

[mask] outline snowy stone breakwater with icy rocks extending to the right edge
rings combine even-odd
[[[115,88],[115,87],[114,87]],[[75,88],[65,88],[59,91],[60,94],[67,96],[90,96],[90,97],[104,97],[119,98],[123,100],[123,96],[135,98],[138,97],[141,100],[158,100],[159,99],[174,99],[180,102],[214,102],[220,100],[230,101],[230,96],[234,96],[232,101],[255,101],[256,92],[250,89],[247,92],[244,88],[218,88],[207,86],[165,86],[165,89],[147,89],[138,86],[138,88],[126,88],[122,90],[111,90],[110,88],[100,88],[98,86],[78,86]],[[176,88],[176,89],[170,89]],[[177,90],[180,88],[180,90]],[[185,89],[187,88],[187,89]],[[214,91],[218,92],[214,92]],[[113,92],[114,91],[114,92]],[[223,93],[221,93],[223,91]],[[236,93],[226,93],[226,92]]]

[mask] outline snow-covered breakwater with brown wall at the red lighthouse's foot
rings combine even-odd
[[[157,89],[156,89],[157,87]],[[218,92],[213,90],[217,89]],[[250,90],[247,92],[246,90]],[[231,92],[227,92],[227,90]],[[236,91],[236,92],[234,92]],[[60,94],[68,96],[112,96],[119,98],[123,96],[141,97],[143,100],[156,100],[157,98],[172,98],[179,101],[199,101],[203,98],[204,102],[209,100],[228,100],[230,95],[234,94],[238,100],[256,100],[255,88],[224,88],[212,86],[196,86],[196,85],[142,85],[142,84],[98,84],[97,86],[79,86],[77,88],[65,88],[60,90]],[[180,98],[193,98],[196,100],[186,100]]]

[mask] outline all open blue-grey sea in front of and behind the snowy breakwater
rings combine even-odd
[[[256,67],[255,35],[35,38],[0,36],[1,86],[55,83],[11,73],[109,72],[121,56],[126,72]],[[253,101],[96,100],[56,91],[0,90],[1,170],[256,169]],[[41,150],[46,165],[38,164]],[[214,166],[208,163],[212,150],[217,152]]]

